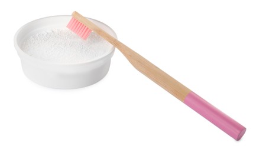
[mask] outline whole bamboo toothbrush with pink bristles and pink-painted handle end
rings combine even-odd
[[[208,119],[208,121],[212,122],[216,127],[222,129],[222,131],[226,132],[230,137],[238,141],[245,134],[246,128],[244,126],[219,109],[213,107],[213,105],[205,101],[205,99],[199,97],[189,88],[185,87],[173,77],[170,77],[166,72],[162,71],[128,46],[122,44],[122,42],[103,31],[79,13],[73,12],[72,19],[69,24],[67,24],[67,28],[83,39],[86,39],[91,31],[96,32],[98,35],[102,36],[102,38],[106,39],[106,41],[118,48],[134,68],[195,110],[198,114]]]

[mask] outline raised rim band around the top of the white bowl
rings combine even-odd
[[[28,22],[28,23],[25,24],[25,25],[22,25],[22,26],[18,29],[18,31],[17,31],[17,32],[15,33],[15,35],[14,35],[14,48],[17,50],[18,55],[20,56],[21,59],[23,59],[23,58],[25,57],[25,58],[29,59],[30,61],[33,61],[33,62],[39,62],[39,63],[42,63],[42,64],[50,64],[50,65],[60,65],[60,66],[61,66],[61,65],[64,65],[64,66],[67,66],[67,65],[69,65],[69,66],[72,66],[72,65],[73,65],[73,66],[77,66],[77,65],[78,65],[78,66],[79,66],[79,65],[86,65],[86,64],[92,64],[92,63],[94,63],[94,62],[103,61],[104,59],[109,58],[109,56],[110,56],[110,58],[111,58],[111,57],[114,55],[115,46],[112,46],[110,52],[108,52],[108,53],[106,53],[106,54],[103,54],[102,56],[99,56],[99,57],[97,57],[97,58],[90,59],[90,60],[85,61],[85,62],[79,62],[79,63],[60,63],[60,62],[53,62],[53,61],[44,61],[44,60],[42,60],[42,59],[35,58],[34,56],[28,55],[27,53],[25,53],[24,51],[22,51],[22,49],[20,48],[20,46],[18,45],[18,42],[17,42],[17,37],[18,37],[18,35],[20,34],[20,32],[22,31],[22,29],[24,29],[26,26],[30,25],[31,23],[33,23],[33,22],[35,22],[35,21],[38,21],[38,20],[41,20],[41,19],[46,19],[46,18],[57,18],[57,17],[70,17],[70,18],[71,18],[72,15],[54,15],[54,16],[46,16],[46,17],[44,17],[44,18],[38,18],[38,19],[35,19],[35,20],[33,20],[33,21]],[[86,17],[86,18],[88,18],[88,17]],[[90,20],[92,20],[92,21],[99,22],[99,23],[103,24],[104,26],[106,26],[107,28],[109,28],[109,29],[113,32],[114,38],[117,39],[117,36],[116,36],[115,31],[114,31],[110,26],[104,24],[104,23],[101,22],[101,21],[98,21],[98,20],[96,20],[96,19],[93,19],[93,18],[88,18],[88,19],[90,19]],[[22,56],[23,56],[23,57],[22,57]]]

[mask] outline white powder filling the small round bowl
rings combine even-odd
[[[50,29],[31,35],[21,44],[30,56],[43,61],[77,64],[103,56],[112,45],[95,32],[83,40],[69,29]]]

